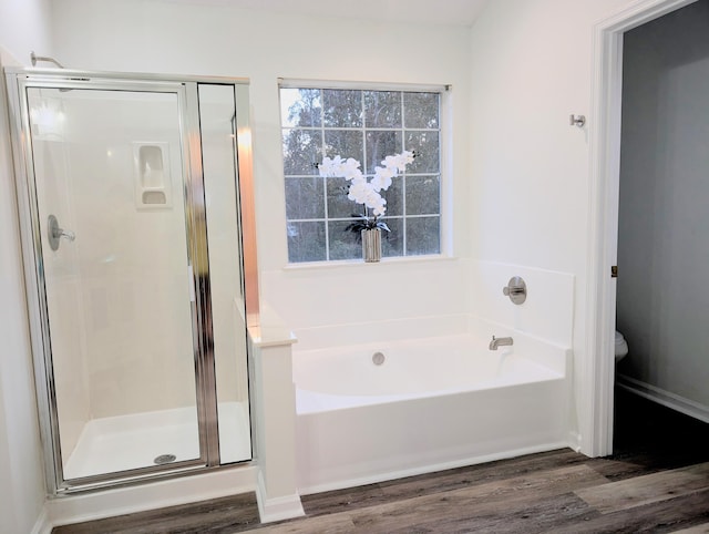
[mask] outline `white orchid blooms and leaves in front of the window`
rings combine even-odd
[[[347,197],[366,206],[364,214],[357,216],[358,220],[350,224],[347,229],[359,232],[366,228],[382,228],[389,232],[389,227],[379,220],[379,217],[387,212],[387,201],[380,195],[380,192],[387,191],[392,184],[392,178],[402,173],[414,157],[415,153],[410,151],[384,157],[381,162],[383,166],[374,167],[374,176],[371,181],[367,179],[360,171],[361,164],[352,157],[343,160],[342,156],[337,155],[332,158],[322,158],[322,163],[317,165],[320,176],[326,178],[343,177],[350,181]],[[372,219],[368,216],[368,209],[372,210]]]

